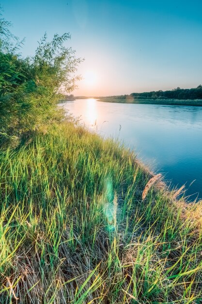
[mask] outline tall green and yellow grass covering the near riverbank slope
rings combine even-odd
[[[202,204],[62,123],[0,151],[1,304],[202,303]]]

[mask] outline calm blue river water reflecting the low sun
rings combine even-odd
[[[202,198],[202,107],[108,103],[61,104],[98,134],[118,138],[173,186],[186,184],[190,201]]]

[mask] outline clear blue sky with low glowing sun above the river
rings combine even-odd
[[[70,32],[85,61],[75,95],[107,96],[202,84],[202,0],[0,0],[32,55],[47,32]]]

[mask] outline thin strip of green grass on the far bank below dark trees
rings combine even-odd
[[[110,98],[102,97],[99,101],[104,102],[117,102],[117,103],[143,103],[143,104],[162,104],[162,105],[190,105],[190,106],[202,106],[202,100],[179,100],[179,99],[122,99],[122,98]]]

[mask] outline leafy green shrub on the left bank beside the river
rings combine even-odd
[[[39,42],[33,57],[17,52],[22,45],[10,33],[10,23],[0,15],[0,143],[6,136],[22,135],[43,123],[61,118],[57,108],[61,95],[73,91],[78,64],[75,51],[65,47],[70,34],[47,34]]]

